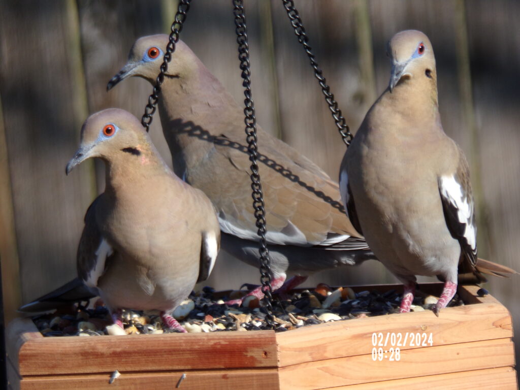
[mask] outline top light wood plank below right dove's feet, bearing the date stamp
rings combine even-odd
[[[296,363],[365,355],[372,350],[372,334],[432,333],[433,345],[512,337],[508,310],[495,303],[445,308],[436,317],[432,311],[392,314],[319,324],[276,335],[279,367]],[[388,345],[390,347],[391,345]],[[418,348],[401,346],[402,349]]]

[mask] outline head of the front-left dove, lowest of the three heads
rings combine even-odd
[[[67,164],[66,173],[91,157],[108,162],[142,158],[141,154],[148,154],[148,145],[148,134],[134,115],[115,108],[99,111],[83,123],[80,148]]]

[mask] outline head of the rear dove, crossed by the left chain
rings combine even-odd
[[[168,39],[166,34],[139,38],[130,49],[125,66],[108,82],[107,90],[128,76],[139,76],[155,84],[155,79],[161,70]],[[190,75],[193,72],[193,57],[195,55],[189,47],[184,42],[178,41],[175,44],[172,61],[168,63],[165,78],[178,79]]]

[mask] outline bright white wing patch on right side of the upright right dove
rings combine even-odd
[[[453,176],[440,178],[440,194],[447,199],[456,209],[457,217],[461,224],[465,224],[464,238],[473,251],[477,248],[477,232],[473,225],[473,201],[468,199],[461,185]]]

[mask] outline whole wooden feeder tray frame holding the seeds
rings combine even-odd
[[[372,288],[402,287],[353,289]],[[7,330],[9,388],[516,390],[511,315],[477,290],[460,287],[465,305],[445,308],[438,318],[425,310],[281,333],[44,337],[30,319],[17,319]],[[438,294],[441,284],[421,284],[421,291]],[[374,361],[380,343],[383,353]],[[121,375],[109,384],[115,370]]]

